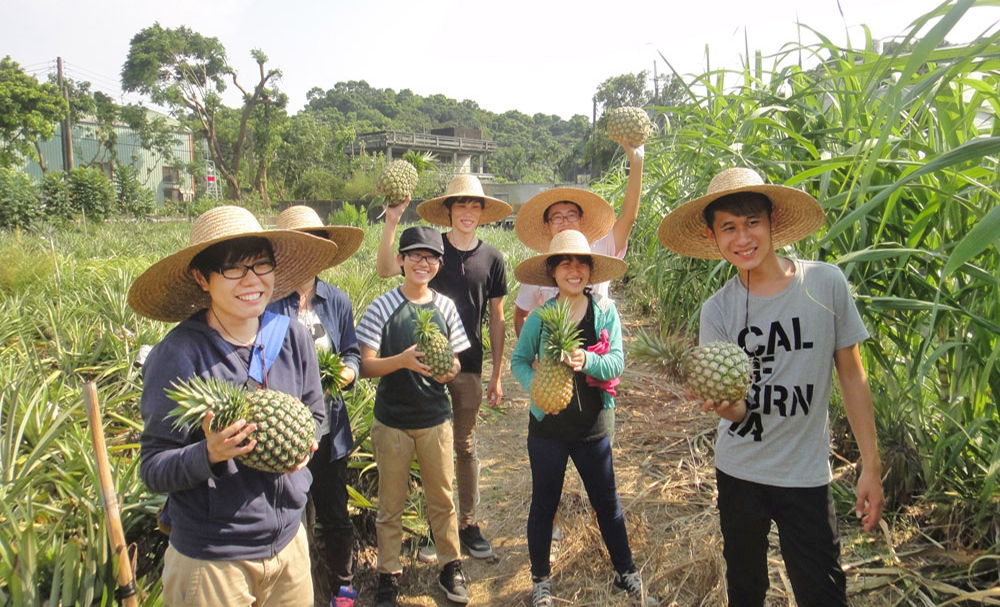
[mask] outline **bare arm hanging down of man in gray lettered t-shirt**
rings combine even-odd
[[[841,348],[833,353],[837,367],[837,381],[844,399],[844,412],[851,424],[854,440],[861,451],[861,474],[858,476],[858,499],[854,511],[861,519],[865,531],[878,527],[885,506],[882,493],[882,461],[878,454],[878,436],[875,432],[875,411],[872,405],[868,376],[861,364],[858,344]]]

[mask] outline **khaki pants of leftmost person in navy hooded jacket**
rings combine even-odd
[[[167,607],[312,607],[312,573],[305,527],[281,552],[252,561],[205,561],[167,547],[163,555]]]

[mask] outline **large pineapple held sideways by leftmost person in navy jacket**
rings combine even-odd
[[[205,414],[214,414],[211,428],[222,430],[243,419],[257,429],[250,438],[257,445],[237,456],[242,464],[264,472],[289,472],[309,455],[316,440],[316,420],[297,398],[275,390],[247,391],[218,379],[192,378],[173,384],[167,396],[177,407],[167,414],[176,417],[174,428],[201,424]]]

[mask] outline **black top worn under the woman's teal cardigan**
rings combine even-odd
[[[594,328],[594,302],[587,296],[587,312],[577,325],[580,338],[587,349],[597,343],[597,330]],[[546,415],[541,421],[528,414],[528,434],[538,438],[554,438],[559,440],[596,440],[607,436],[608,425],[606,417],[614,415],[612,409],[604,408],[601,389],[587,385],[587,375],[583,371],[573,374],[573,398],[569,405],[556,415]]]

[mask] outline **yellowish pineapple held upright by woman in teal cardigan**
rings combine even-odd
[[[537,311],[545,329],[542,354],[531,381],[531,400],[547,415],[559,413],[573,398],[573,370],[564,364],[570,352],[580,347],[580,330],[570,318],[565,300]]]

